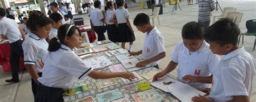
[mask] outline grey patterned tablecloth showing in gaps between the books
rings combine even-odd
[[[103,46],[106,46],[106,45],[113,45],[113,44],[114,43],[112,43],[112,42],[104,44],[104,45],[97,45],[97,43],[92,43],[93,47],[95,47],[95,48],[96,47],[103,47]],[[105,54],[105,52],[92,53],[92,55],[93,55],[93,57],[105,56],[107,59],[109,59],[113,63],[113,65],[120,63],[115,56],[109,57]],[[138,56],[135,56],[135,57],[139,60]],[[91,59],[91,58],[92,57],[89,57],[87,59]],[[159,69],[150,67],[150,68],[146,68],[146,69],[142,69],[142,70],[137,70],[136,72],[140,75],[140,74],[144,74],[146,72],[149,72],[151,70],[159,70]],[[105,67],[104,69],[100,69],[100,70],[97,70],[97,71],[111,72],[109,67]],[[120,92],[122,92],[123,96],[128,98],[130,101],[134,101],[133,98],[131,97],[131,94],[129,93],[129,91],[127,91],[125,89],[130,84],[125,84],[122,81],[122,79],[120,79],[120,78],[117,78],[117,79],[118,79],[118,84],[112,85],[112,86],[109,86],[109,87],[103,88],[103,89],[97,89],[96,85],[95,85],[95,83],[100,81],[100,79],[97,80],[97,79],[93,79],[93,78],[88,77],[88,76],[85,77],[82,80],[75,79],[75,81],[71,85],[72,87],[86,84],[88,86],[89,90],[87,90],[85,93],[76,94],[75,96],[65,97],[64,101],[75,102],[76,100],[83,99],[83,98],[86,98],[86,97],[89,97],[89,96],[92,96],[93,99],[95,99],[95,101],[98,101],[97,98],[96,98],[97,94],[104,93],[104,92],[107,92],[107,91],[111,91],[111,90],[114,90],[114,89],[117,89]],[[145,81],[146,80],[143,79],[142,81],[139,81],[139,82],[145,82]],[[147,81],[147,82],[149,82],[149,81]],[[155,89],[155,88],[152,88],[152,89],[154,91],[157,91],[163,98],[165,98],[165,101],[179,101],[176,97],[172,96],[172,94],[164,93],[164,92],[162,92],[158,89]]]

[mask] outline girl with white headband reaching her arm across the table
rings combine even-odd
[[[72,51],[82,44],[80,35],[78,27],[64,24],[59,27],[57,37],[50,40],[49,53],[41,60],[44,64],[43,75],[38,78],[35,101],[63,101],[62,91],[71,86],[74,78],[134,78],[129,72],[100,72],[87,68],[83,60]]]

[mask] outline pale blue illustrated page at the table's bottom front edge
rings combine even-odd
[[[112,101],[112,100],[122,98],[123,95],[118,90],[112,90],[102,94],[97,94],[96,97],[98,101]]]

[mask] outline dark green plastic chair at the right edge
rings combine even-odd
[[[244,35],[255,36],[254,46],[253,46],[253,50],[254,50],[255,49],[255,43],[256,43],[256,19],[247,20],[246,21],[246,28],[247,28],[247,32],[241,33],[239,35],[238,45],[239,45],[239,42],[240,42],[241,35],[242,35],[242,44],[244,44]]]

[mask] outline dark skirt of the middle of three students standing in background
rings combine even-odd
[[[117,26],[112,24],[112,25],[107,25],[107,37],[109,37],[109,40],[112,42],[118,42],[118,33],[117,33]]]

